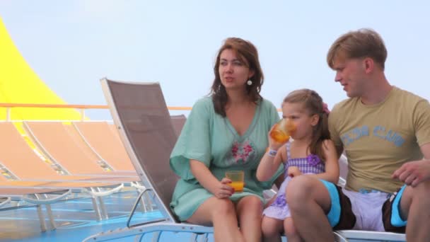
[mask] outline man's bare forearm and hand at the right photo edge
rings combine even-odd
[[[424,159],[404,163],[393,173],[392,178],[399,179],[412,187],[430,179],[430,143],[424,144],[420,149]]]

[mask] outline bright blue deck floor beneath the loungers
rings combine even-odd
[[[40,221],[35,206],[23,206],[18,209],[0,210],[0,241],[82,241],[84,238],[110,229],[124,228],[129,211],[136,200],[136,192],[119,192],[105,197],[104,202],[109,219],[96,221],[91,199],[79,198],[52,204],[52,213],[57,224],[53,231],[40,231]],[[44,209],[44,214],[46,214]],[[134,222],[148,221],[161,217],[158,211],[140,212]],[[45,217],[49,228],[49,221]],[[190,234],[163,233],[161,241],[189,241]],[[117,241],[134,241],[134,237]],[[142,241],[151,241],[151,234]],[[209,241],[213,241],[209,236]]]

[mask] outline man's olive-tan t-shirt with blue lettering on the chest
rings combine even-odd
[[[391,175],[407,161],[423,158],[430,142],[429,101],[393,86],[375,105],[360,98],[338,103],[329,115],[330,134],[348,158],[348,190],[395,192],[402,183]]]

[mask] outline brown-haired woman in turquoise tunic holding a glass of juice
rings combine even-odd
[[[215,241],[260,241],[262,191],[273,179],[259,182],[255,172],[279,115],[260,96],[263,74],[252,43],[228,38],[214,74],[210,96],[194,104],[170,156],[181,178],[170,207],[181,221],[213,225]],[[233,170],[244,171],[243,192],[228,185],[225,173]]]

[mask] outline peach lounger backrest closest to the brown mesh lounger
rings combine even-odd
[[[73,122],[73,125],[98,159],[106,161],[114,171],[136,173],[117,131],[108,122]]]

